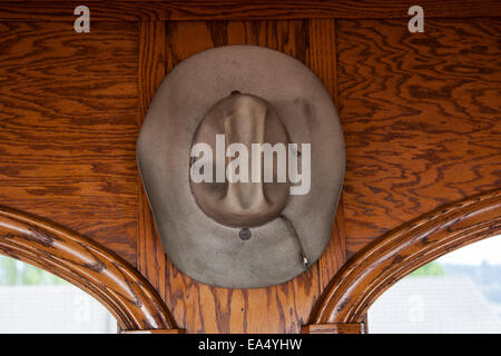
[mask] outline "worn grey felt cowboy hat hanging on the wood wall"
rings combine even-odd
[[[277,181],[278,155],[272,156],[272,181],[215,181],[230,166],[227,156],[223,168],[205,161],[200,172],[214,180],[195,180],[194,148],[216,152],[217,136],[249,150],[253,144],[297,144],[287,154],[299,168],[302,144],[310,144],[310,190],[291,195],[297,181]],[[282,284],[328,244],[344,178],[343,134],[322,82],[289,56],[226,46],[180,62],[155,95],[137,159],[167,256],[196,280],[226,288]],[[248,166],[249,176],[262,166]]]

